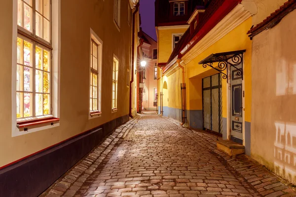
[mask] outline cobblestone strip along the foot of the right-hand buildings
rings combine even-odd
[[[254,191],[257,191],[261,196],[266,197],[296,196],[295,188],[291,188],[291,184],[288,181],[271,173],[255,160],[249,158],[246,155],[239,155],[236,158],[229,157],[228,155],[216,149],[216,135],[207,133],[205,131],[188,130],[183,128],[180,125],[181,123],[174,119],[165,119],[182,128],[181,130],[187,135],[212,150],[217,155],[219,160],[225,163],[225,166],[228,166],[230,171],[239,177],[239,180],[242,181],[242,185],[244,185],[246,188],[250,188],[249,191],[251,193],[255,193]],[[197,134],[199,137],[193,135],[192,132]],[[206,141],[200,139],[206,139]],[[222,137],[218,136],[218,139],[222,140]]]

